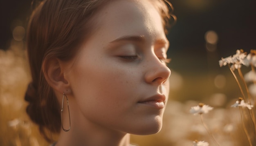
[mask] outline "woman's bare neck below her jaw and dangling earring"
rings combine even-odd
[[[56,146],[129,146],[130,134],[95,124],[87,120],[78,112],[79,110],[74,111],[70,111],[72,118],[70,131],[61,130]],[[69,127],[68,118],[68,116],[63,117],[66,128]]]

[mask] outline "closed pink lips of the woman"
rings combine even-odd
[[[144,100],[139,101],[139,104],[144,104],[153,108],[161,109],[164,108],[164,103],[166,101],[165,95],[157,94],[151,97],[148,97]]]

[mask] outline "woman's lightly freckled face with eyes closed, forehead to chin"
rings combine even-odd
[[[77,113],[101,128],[157,133],[171,74],[164,62],[168,40],[159,13],[148,0],[116,0],[95,21],[96,32],[65,75]]]

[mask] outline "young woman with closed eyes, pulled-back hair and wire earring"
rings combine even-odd
[[[129,146],[168,99],[162,0],[46,0],[28,26],[27,113],[55,146]]]

